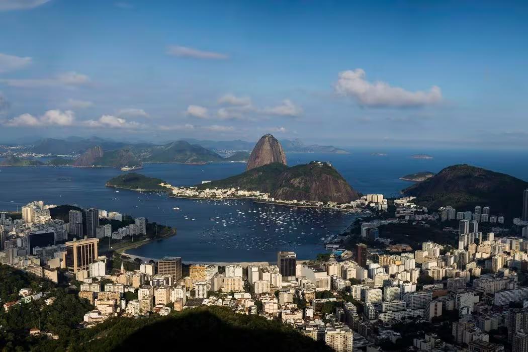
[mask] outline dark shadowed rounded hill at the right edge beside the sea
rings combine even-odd
[[[403,189],[431,208],[451,205],[457,210],[489,206],[492,214],[521,215],[523,190],[528,182],[470,165],[452,165],[435,176]]]

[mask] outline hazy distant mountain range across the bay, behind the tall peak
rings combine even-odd
[[[286,151],[303,153],[348,153],[332,146],[304,146],[299,140],[284,140]],[[74,159],[54,158],[49,165],[71,165],[77,167],[123,167],[140,166],[142,163],[204,164],[226,161],[248,161],[248,150],[255,146],[243,140],[177,140],[163,145],[147,142],[127,143],[98,137],[67,139],[44,138],[27,146],[25,151],[41,155],[73,155]],[[3,165],[39,165],[30,159],[7,159]],[[42,163],[40,163],[42,164]]]

